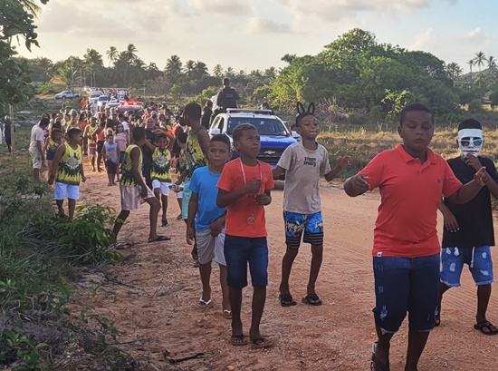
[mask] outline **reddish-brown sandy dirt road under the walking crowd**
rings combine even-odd
[[[84,202],[120,209],[119,187],[108,187],[104,173],[91,173],[82,185]],[[367,370],[375,340],[370,250],[379,203],[378,193],[350,199],[340,183],[321,186],[325,252],[317,292],[324,304],[301,303],[306,294],[310,248],[302,246],[292,269],[291,290],[299,304],[282,308],[278,300],[281,259],[285,249],[282,218],[283,185],[273,191],[266,208],[270,248],[270,283],[262,332],[276,345],[271,349],[233,347],[230,321],[222,317],[218,269],[212,277],[214,308],[200,308],[198,270],[185,240],[185,225],[176,220],[178,205],[169,197],[170,225],[159,227],[169,243],[147,243],[148,205],[132,212],[120,234],[130,246],[129,259],[110,268],[112,279],[85,278],[79,296],[94,310],[115,321],[124,350],[136,356],[143,370]],[[441,220],[439,225],[441,225]],[[493,249],[496,259],[496,249]],[[108,276],[109,278],[109,276]],[[100,283],[97,295],[91,288]],[[104,291],[105,290],[105,291]],[[105,292],[107,291],[107,295]],[[250,323],[252,288],[244,290],[243,320]],[[429,337],[420,371],[496,370],[498,337],[474,330],[475,288],[467,270],[463,287],[445,295],[441,327]],[[498,295],[493,295],[488,319],[498,322]],[[403,370],[407,324],[394,337],[391,370]],[[165,352],[179,358],[204,357],[171,365]]]

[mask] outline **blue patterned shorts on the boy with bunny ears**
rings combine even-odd
[[[323,245],[323,219],[320,211],[313,214],[283,211],[283,221],[288,249],[299,249],[303,233],[302,242]]]

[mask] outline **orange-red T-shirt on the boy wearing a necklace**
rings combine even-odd
[[[267,163],[258,161],[256,166],[247,166],[235,159],[228,162],[221,173],[217,188],[229,193],[244,188],[244,166],[245,181],[261,179],[261,190],[273,190],[272,167]],[[225,233],[236,237],[266,237],[266,220],[264,218],[264,206],[256,203],[255,194],[248,194],[235,200],[226,207]],[[254,223],[250,224],[247,219],[253,217]]]

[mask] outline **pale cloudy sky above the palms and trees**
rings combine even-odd
[[[39,3],[39,2],[38,2]],[[379,43],[435,54],[464,71],[477,52],[498,56],[494,0],[50,0],[35,24],[40,48],[19,54],[58,61],[134,44],[163,69],[177,54],[235,71],[283,67],[284,54],[318,54],[355,27]]]

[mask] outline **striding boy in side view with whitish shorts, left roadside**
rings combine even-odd
[[[121,227],[129,217],[129,211],[137,210],[141,203],[147,202],[150,205],[148,242],[167,241],[168,237],[158,235],[159,201],[140,175],[143,158],[140,147],[146,141],[145,129],[140,127],[133,129],[133,139],[135,142],[126,149],[125,158],[121,165],[121,211],[114,223],[114,236],[116,239],[118,238]]]

